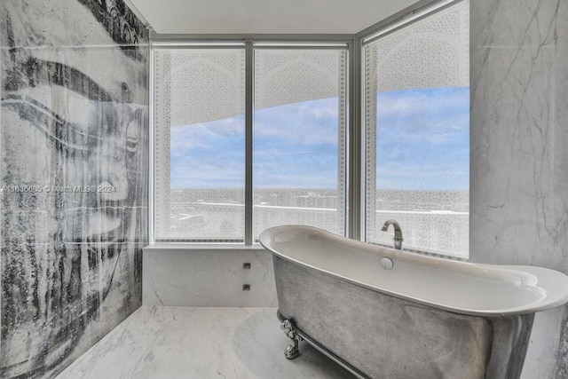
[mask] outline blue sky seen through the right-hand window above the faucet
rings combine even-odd
[[[469,189],[469,88],[377,94],[381,189]]]

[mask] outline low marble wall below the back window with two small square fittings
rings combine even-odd
[[[146,248],[143,267],[144,305],[278,305],[272,255],[264,249]]]

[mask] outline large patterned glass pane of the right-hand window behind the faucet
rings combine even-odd
[[[365,46],[367,241],[469,255],[469,2]]]

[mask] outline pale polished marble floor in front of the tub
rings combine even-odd
[[[276,308],[142,306],[57,379],[352,378],[303,342],[288,338]]]

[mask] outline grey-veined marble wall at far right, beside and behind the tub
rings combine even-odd
[[[568,273],[568,3],[470,5],[472,261]],[[568,376],[568,312],[538,313],[522,377]]]

